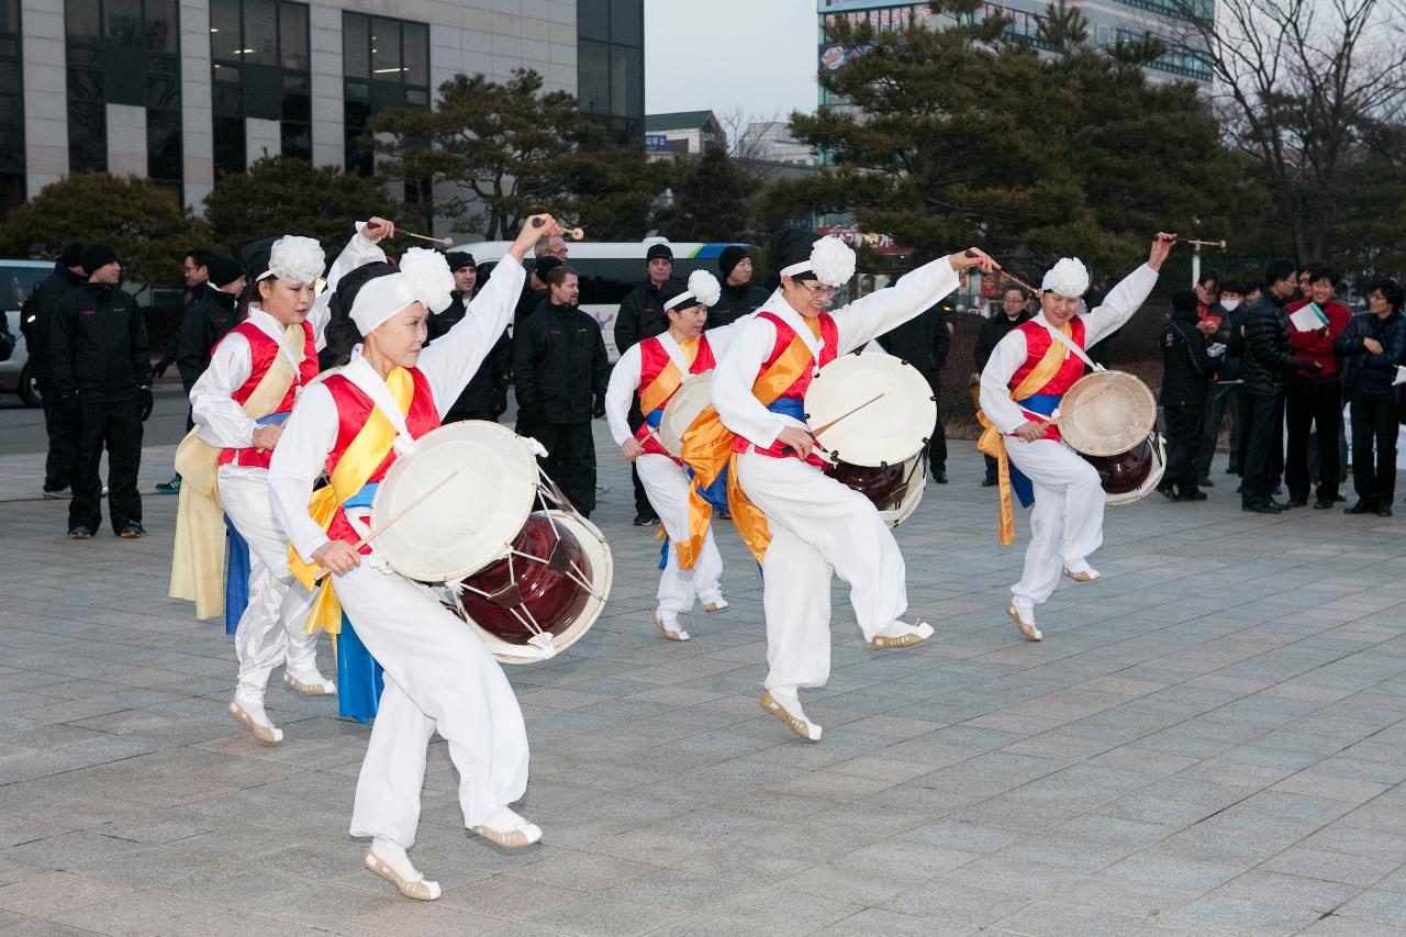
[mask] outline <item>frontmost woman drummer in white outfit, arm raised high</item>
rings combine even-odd
[[[405,854],[415,844],[425,750],[433,733],[449,741],[467,827],[509,848],[541,839],[536,824],[508,806],[527,786],[522,710],[482,639],[418,585],[378,568],[374,560],[367,563],[371,557],[354,549],[370,508],[344,508],[346,522],[333,528],[344,539],[329,539],[308,514],[308,502],[318,476],[335,470],[333,449],[349,431],[342,421],[353,414],[368,414],[360,418],[363,432],[370,431],[373,416],[384,415],[401,450],[413,445],[411,436],[427,432],[425,422],[439,423],[512,319],[523,283],[522,257],[538,238],[560,234],[548,215],[523,225],[470,304],[470,314],[423,352],[425,302],[443,308],[453,290],[443,256],[433,255],[437,266],[422,270],[425,257],[419,255],[429,252],[412,249],[413,263],[412,256],[402,259],[401,273],[364,284],[352,304],[364,346],[353,352],[336,380],[329,377],[304,393],[269,470],[280,525],[301,557],[332,571],[343,611],[385,670],[385,689],[357,778],[352,836],[373,837],[366,865],[419,900],[440,895],[439,884],[425,881]],[[406,381],[411,398],[398,402],[394,394]],[[426,394],[432,400],[426,401]],[[412,433],[406,423],[413,419],[422,422]],[[395,452],[388,449],[371,481],[384,477]]]

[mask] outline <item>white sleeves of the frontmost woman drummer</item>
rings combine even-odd
[[[494,276],[484,290],[468,304],[464,318],[420,352],[416,369],[429,381],[440,416],[454,405],[498,336],[508,328],[524,279],[522,264],[512,255],[505,256],[494,267]],[[343,373],[356,383],[382,380],[361,357],[360,349],[352,353]],[[391,422],[394,425],[399,421],[392,418]],[[328,543],[328,535],[308,514],[308,501],[336,442],[337,404],[326,385],[312,384],[284,425],[269,466],[269,497],[274,518],[298,556],[309,563],[312,554]]]

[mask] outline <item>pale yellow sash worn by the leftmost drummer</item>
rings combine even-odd
[[[301,324],[290,325],[283,332],[283,346],[297,348],[294,357],[298,360],[302,359],[304,340]],[[259,419],[274,412],[295,378],[288,356],[274,355],[242,407],[245,415]],[[225,509],[219,506],[217,491],[221,452],[200,440],[198,426],[186,433],[176,447],[176,471],[181,481],[167,595],[195,602],[195,618],[225,612]]]

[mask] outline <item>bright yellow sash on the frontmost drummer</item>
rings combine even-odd
[[[401,414],[409,415],[411,401],[415,398],[415,378],[411,377],[411,373],[404,367],[396,367],[385,376],[385,385],[389,388],[395,405],[401,408]],[[308,502],[308,514],[323,532],[332,525],[337,508],[366,487],[371,473],[385,461],[394,443],[395,426],[391,423],[391,418],[380,408],[373,408],[371,416],[332,470],[332,484],[314,491],[312,501]],[[336,577],[322,577],[319,588],[316,577],[321,568],[316,563],[305,563],[297,550],[288,547],[288,571],[307,588],[318,589],[318,598],[308,620],[302,625],[302,630],[309,635],[318,630],[337,635],[342,632],[342,604],[337,601],[332,584]]]

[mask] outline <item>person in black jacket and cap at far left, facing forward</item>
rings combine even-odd
[[[124,539],[142,529],[142,421],[152,412],[152,359],[136,300],[124,293],[122,264],[104,243],[83,249],[87,283],[53,311],[49,357],[59,405],[73,414],[77,459],[69,536],[87,540],[103,521],[98,463],[107,447],[108,509],[112,530]]]

